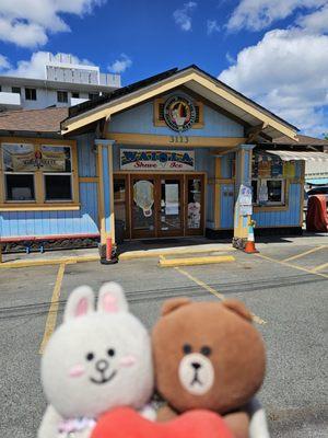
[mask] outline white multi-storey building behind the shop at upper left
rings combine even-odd
[[[0,111],[72,106],[120,88],[120,74],[48,54],[43,79],[0,76]]]

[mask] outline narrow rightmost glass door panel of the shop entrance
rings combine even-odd
[[[203,234],[204,216],[203,175],[186,176],[186,234]]]

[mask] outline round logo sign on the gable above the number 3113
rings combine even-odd
[[[196,120],[195,105],[181,96],[169,97],[164,105],[164,119],[173,130],[190,129]]]

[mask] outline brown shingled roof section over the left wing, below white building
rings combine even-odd
[[[0,131],[60,132],[68,108],[19,110],[0,113]]]

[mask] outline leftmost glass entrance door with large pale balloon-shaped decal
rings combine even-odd
[[[131,176],[132,239],[156,237],[156,177]]]

